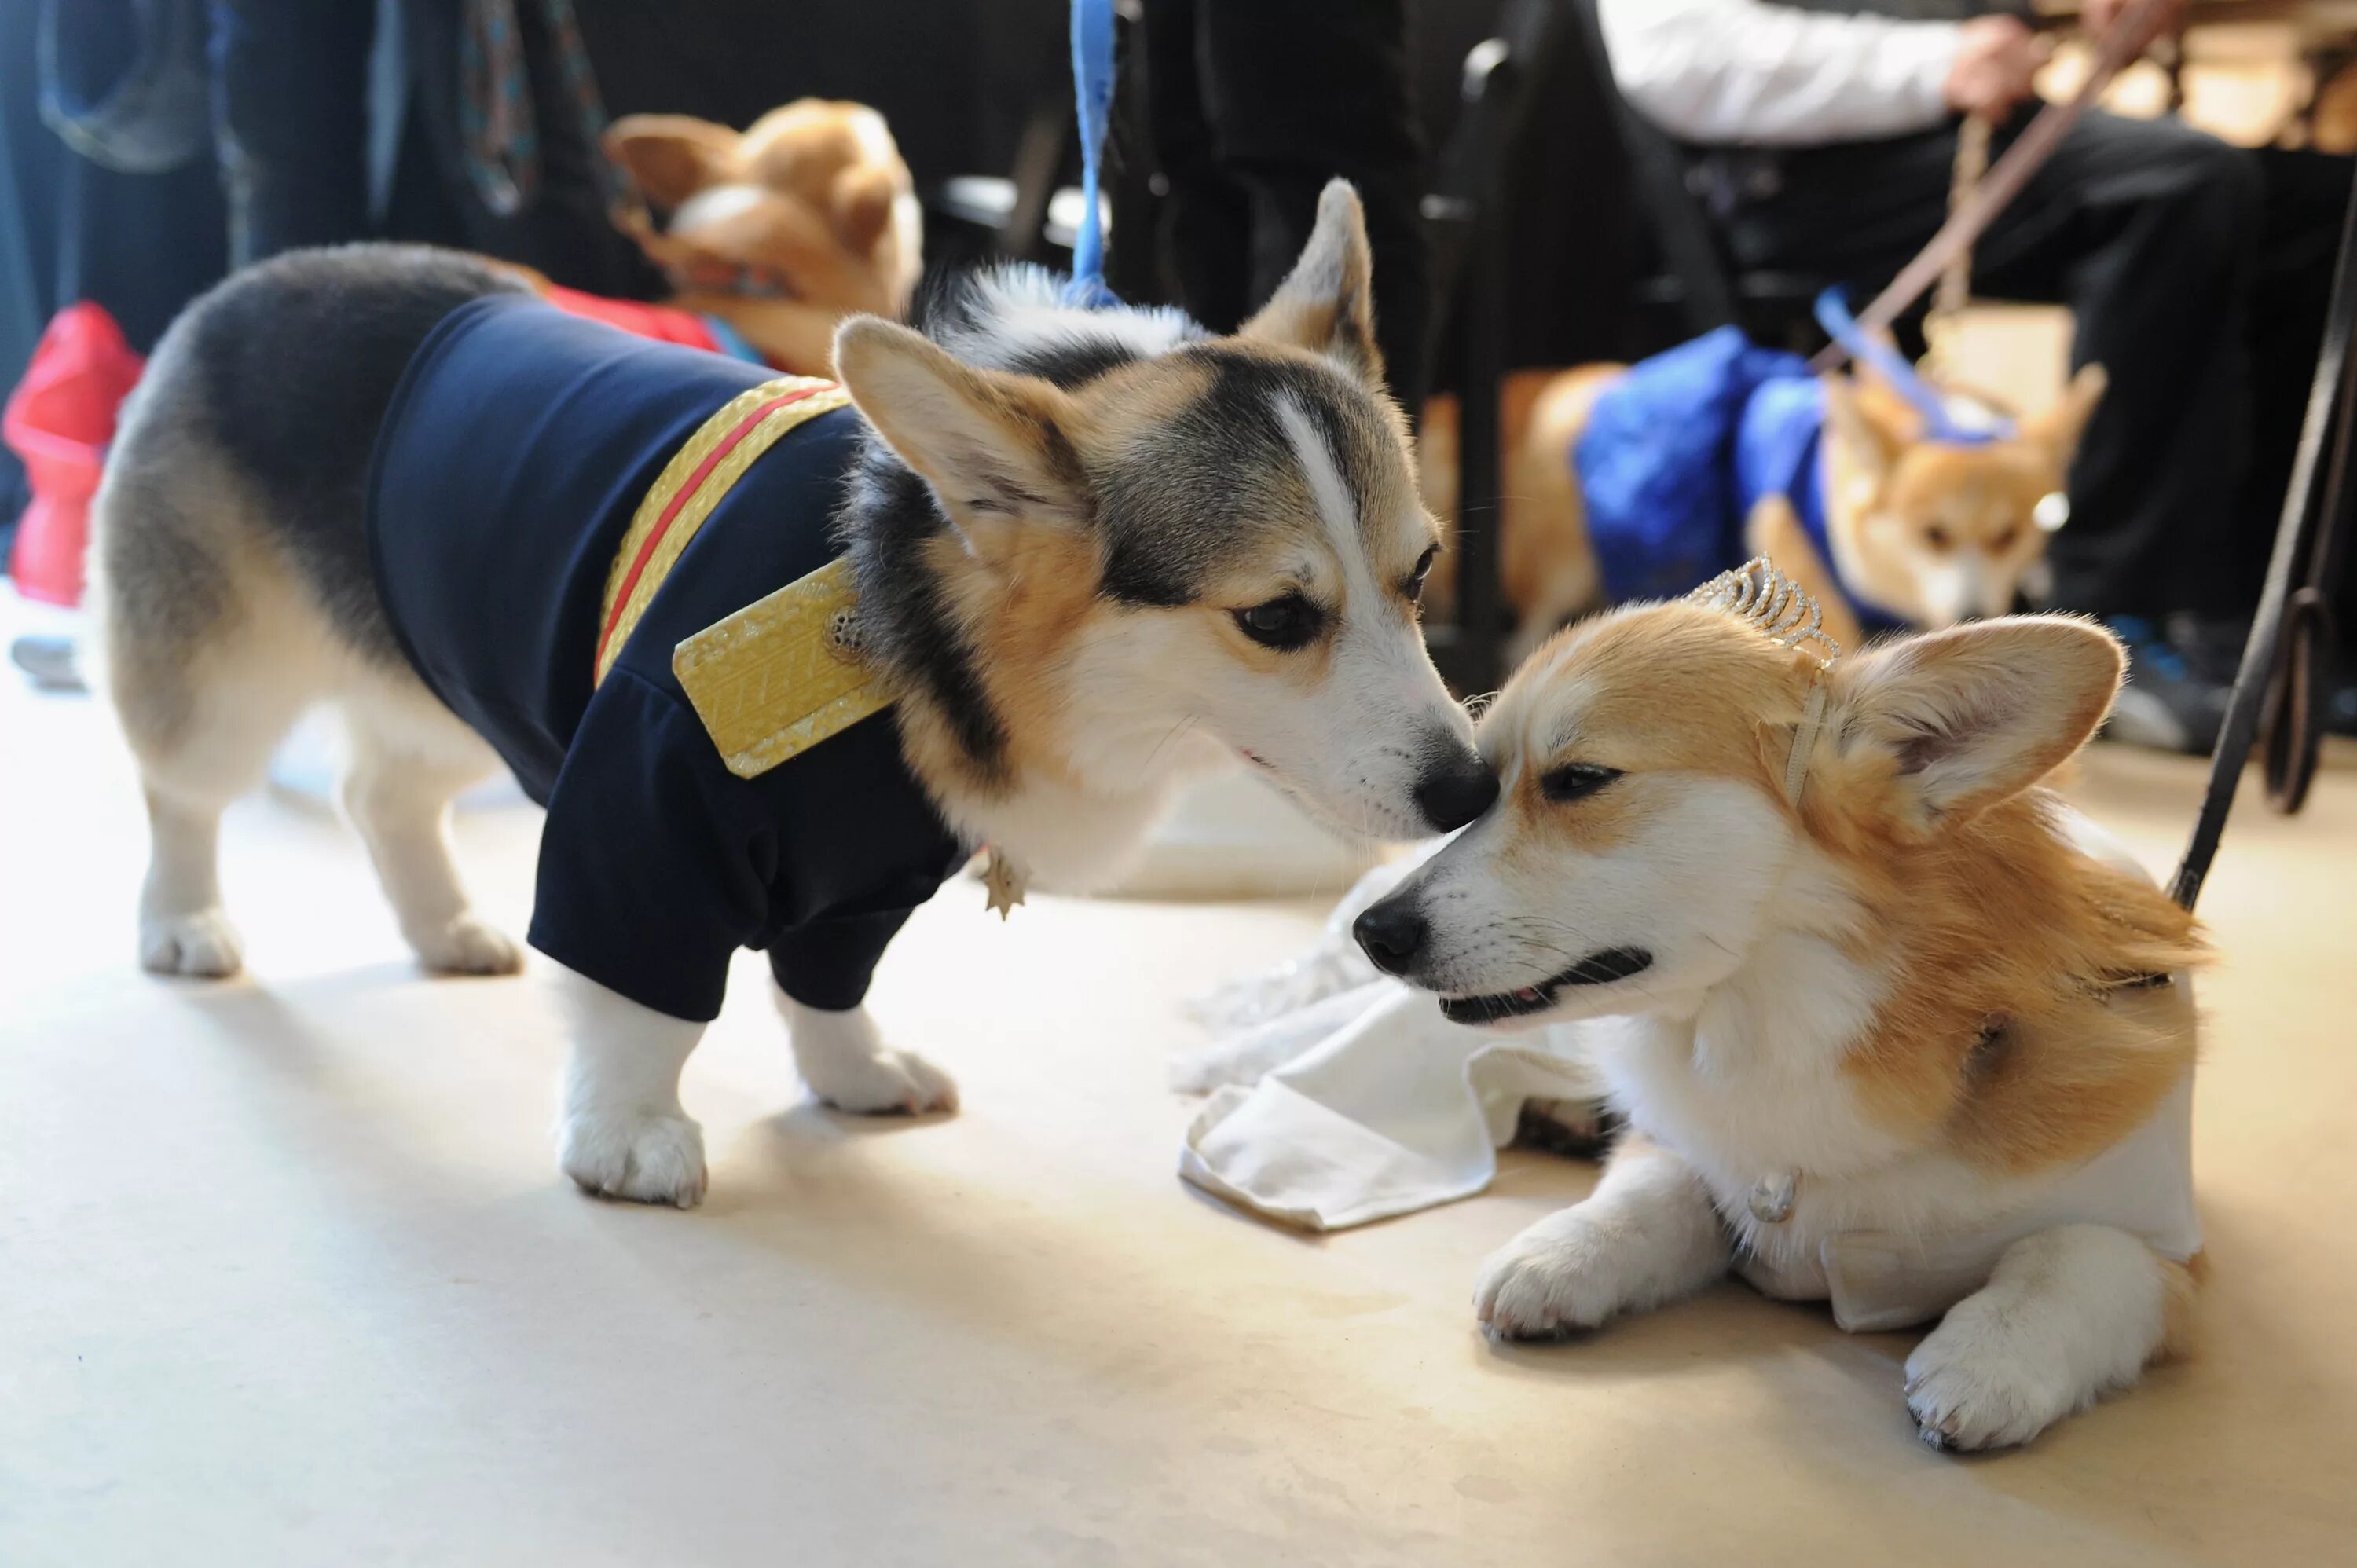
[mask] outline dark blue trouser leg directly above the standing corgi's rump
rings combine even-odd
[[[212,118],[229,262],[365,238],[377,7],[212,0]]]

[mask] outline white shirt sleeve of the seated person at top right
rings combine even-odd
[[[1937,125],[1961,28],[1765,0],[1598,0],[1612,80],[1711,146],[1860,141]]]

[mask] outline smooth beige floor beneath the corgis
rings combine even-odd
[[[158,983],[99,714],[0,679],[0,757],[9,1568],[2357,1561],[2357,771],[2249,809],[2211,891],[2209,1351],[1959,1462],[1907,1337],[1735,1285],[1485,1344],[1475,1261],[1589,1167],[1332,1240],[1183,1188],[1174,1002],[1308,905],[999,929],[952,887],[877,990],[964,1082],[929,1125],[797,1106],[747,969],[688,1073],[712,1200],[653,1212],[556,1179],[549,1009],[420,979],[335,821],[238,806],[252,979]],[[2081,790],[2157,863],[2194,792],[2119,752]],[[533,832],[460,832],[511,922]]]

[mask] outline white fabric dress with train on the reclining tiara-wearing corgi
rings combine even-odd
[[[2145,875],[2119,839],[2077,811],[2062,816],[2062,830],[2086,854]],[[1603,1099],[1603,1075],[1582,1052],[1582,1030],[1593,1023],[1506,1042],[1450,1023],[1435,997],[1381,976],[1360,955],[1351,922],[1419,863],[1367,872],[1306,957],[1195,1007],[1228,1033],[1174,1068],[1178,1089],[1211,1092],[1186,1132],[1181,1177],[1268,1219],[1341,1231],[1490,1186],[1523,1101]],[[2154,1004],[2178,1009],[2190,1028],[2190,976],[2176,976]],[[2020,1236],[2074,1221],[2124,1228],[2173,1259],[2201,1250],[2190,1075],[2145,1127],[1987,1226],[1846,1231],[1798,1269],[1754,1259],[1744,1276],[1768,1294],[1831,1297],[1846,1330],[1904,1327],[1978,1290]]]

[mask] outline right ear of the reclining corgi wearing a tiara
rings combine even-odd
[[[1853,757],[1888,757],[1897,816],[1933,832],[2062,766],[2124,670],[2119,639],[2091,620],[1978,620],[1836,665],[1829,729]]]

